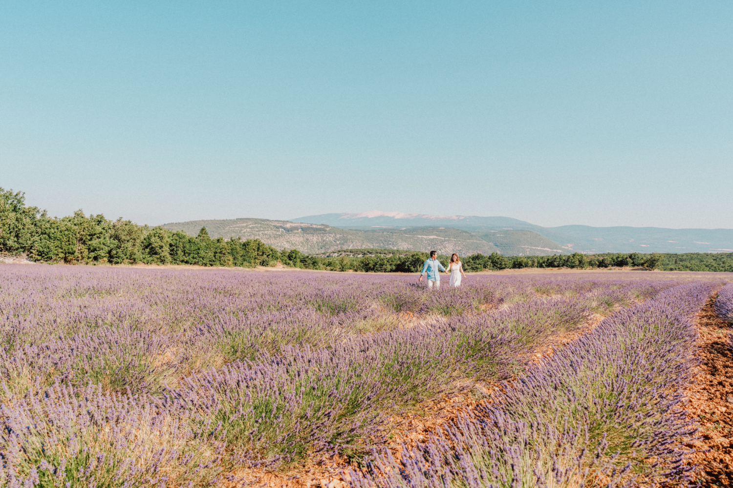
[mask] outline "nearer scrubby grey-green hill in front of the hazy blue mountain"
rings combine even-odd
[[[260,239],[277,249],[298,249],[307,254],[337,249],[408,249],[443,254],[476,252],[491,254],[501,249],[475,234],[454,228],[410,228],[406,230],[340,229],[329,225],[266,219],[191,220],[163,225],[191,236],[205,227],[212,238]]]

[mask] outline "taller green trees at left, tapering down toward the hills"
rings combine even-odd
[[[297,249],[278,251],[259,239],[211,239],[102,214],[48,217],[26,206],[21,192],[0,188],[0,252],[25,254],[34,261],[78,264],[196,264],[199,266],[268,266],[280,261],[301,266]]]

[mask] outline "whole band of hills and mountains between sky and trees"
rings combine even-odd
[[[441,253],[552,255],[583,252],[733,252],[732,229],[668,229],[561,225],[545,228],[512,217],[367,211],[292,220],[211,219],[163,225],[213,238],[260,239],[278,249],[308,254],[339,249],[405,249]]]

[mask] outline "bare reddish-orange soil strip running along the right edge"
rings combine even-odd
[[[690,416],[699,424],[701,440],[692,455],[701,487],[733,486],[733,351],[731,330],[712,309],[712,300],[698,315],[698,347],[703,364],[688,388]]]

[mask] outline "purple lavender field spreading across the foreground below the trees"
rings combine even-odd
[[[0,266],[0,486],[233,486],[317,459],[356,487],[684,484],[693,318],[724,283],[622,275],[430,292],[408,275]],[[395,445],[397,418],[451,394],[477,405]]]

